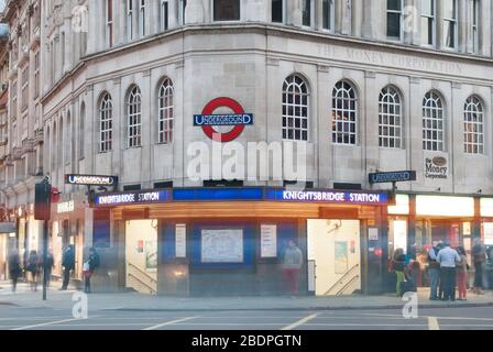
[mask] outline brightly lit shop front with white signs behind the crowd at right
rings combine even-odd
[[[396,196],[396,204],[388,207],[387,213],[388,262],[397,249],[404,251],[407,262],[421,257],[423,279],[418,282],[423,286],[428,285],[424,258],[439,242],[447,242],[452,248],[463,246],[471,261],[474,239],[480,239],[492,260],[493,198],[401,194]],[[393,284],[387,287],[392,289]]]

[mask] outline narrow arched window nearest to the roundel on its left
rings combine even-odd
[[[173,103],[173,81],[165,78],[161,84],[157,95],[157,119],[158,119],[158,142],[173,142],[173,120],[174,120],[174,103]]]

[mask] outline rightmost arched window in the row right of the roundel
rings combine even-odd
[[[483,105],[476,97],[469,97],[464,105],[464,152],[483,154]]]

